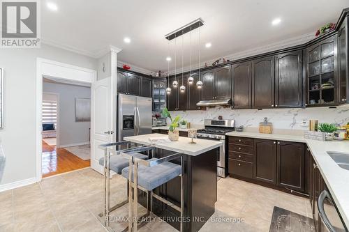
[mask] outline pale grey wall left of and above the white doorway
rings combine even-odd
[[[4,124],[0,140],[6,155],[1,185],[36,177],[37,57],[96,70],[96,59],[48,45],[40,49],[1,49]]]

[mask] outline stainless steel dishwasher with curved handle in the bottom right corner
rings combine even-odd
[[[329,190],[321,192],[317,203],[321,219],[319,231],[348,232]]]

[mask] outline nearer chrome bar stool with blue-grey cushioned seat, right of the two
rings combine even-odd
[[[121,155],[127,156],[127,152],[121,152]],[[174,160],[180,158],[181,165],[174,164],[169,162],[170,160]],[[134,163],[134,164],[133,164]],[[173,155],[169,155],[167,157],[163,157],[160,159],[152,158],[150,160],[141,160],[137,157],[132,159],[129,158],[129,166],[122,169],[121,176],[128,179],[128,231],[135,232],[138,230],[138,189],[146,192],[150,192],[150,210],[152,211],[153,206],[153,197],[167,204],[174,210],[177,210],[181,214],[180,219],[180,231],[184,230],[183,218],[184,218],[184,160],[183,155],[181,153],[176,153]],[[130,167],[132,170],[130,171]],[[153,192],[156,187],[159,187],[168,181],[176,178],[177,176],[181,176],[181,207],[174,205],[170,201],[163,199],[163,197],[158,196]],[[133,190],[133,196],[132,196]],[[133,202],[133,206],[132,203]],[[147,207],[148,208],[148,207]],[[136,220],[134,220],[136,219]]]

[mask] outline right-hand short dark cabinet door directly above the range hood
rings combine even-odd
[[[231,79],[232,71],[231,66],[224,66],[222,68],[216,68],[214,75],[215,82],[215,99],[231,98]]]

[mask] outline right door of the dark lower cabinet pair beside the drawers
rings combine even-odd
[[[298,192],[305,191],[305,145],[277,141],[276,184]]]

